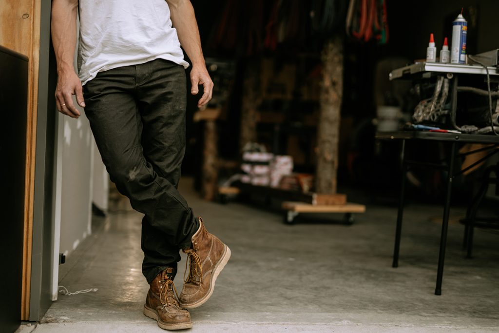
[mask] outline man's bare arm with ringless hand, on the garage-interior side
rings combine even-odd
[[[194,8],[190,0],[166,0],[166,2],[170,7],[172,23],[177,29],[180,44],[192,61],[191,93],[196,95],[199,92],[198,84],[203,85],[203,96],[198,102],[198,107],[201,107],[212,99],[213,81],[206,69]]]

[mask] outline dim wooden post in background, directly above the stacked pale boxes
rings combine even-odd
[[[243,101],[241,105],[240,148],[248,142],[256,141],[257,106],[259,103],[259,66],[257,60],[249,59],[243,82]]]

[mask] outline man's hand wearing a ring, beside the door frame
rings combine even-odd
[[[78,105],[85,107],[81,81],[74,70],[69,69],[60,71],[57,77],[57,87],[55,89],[57,110],[72,118],[78,118],[80,112],[73,104],[73,95],[76,95],[76,102]]]

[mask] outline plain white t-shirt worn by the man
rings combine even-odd
[[[157,58],[189,66],[165,0],[79,0],[79,16],[82,84],[100,71]]]

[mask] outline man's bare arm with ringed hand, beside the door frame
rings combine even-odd
[[[55,102],[59,112],[73,118],[78,118],[80,112],[73,105],[72,95],[76,95],[76,101],[80,106],[85,106],[81,81],[76,75],[73,65],[77,10],[78,0],[52,1],[52,44],[57,60]]]

